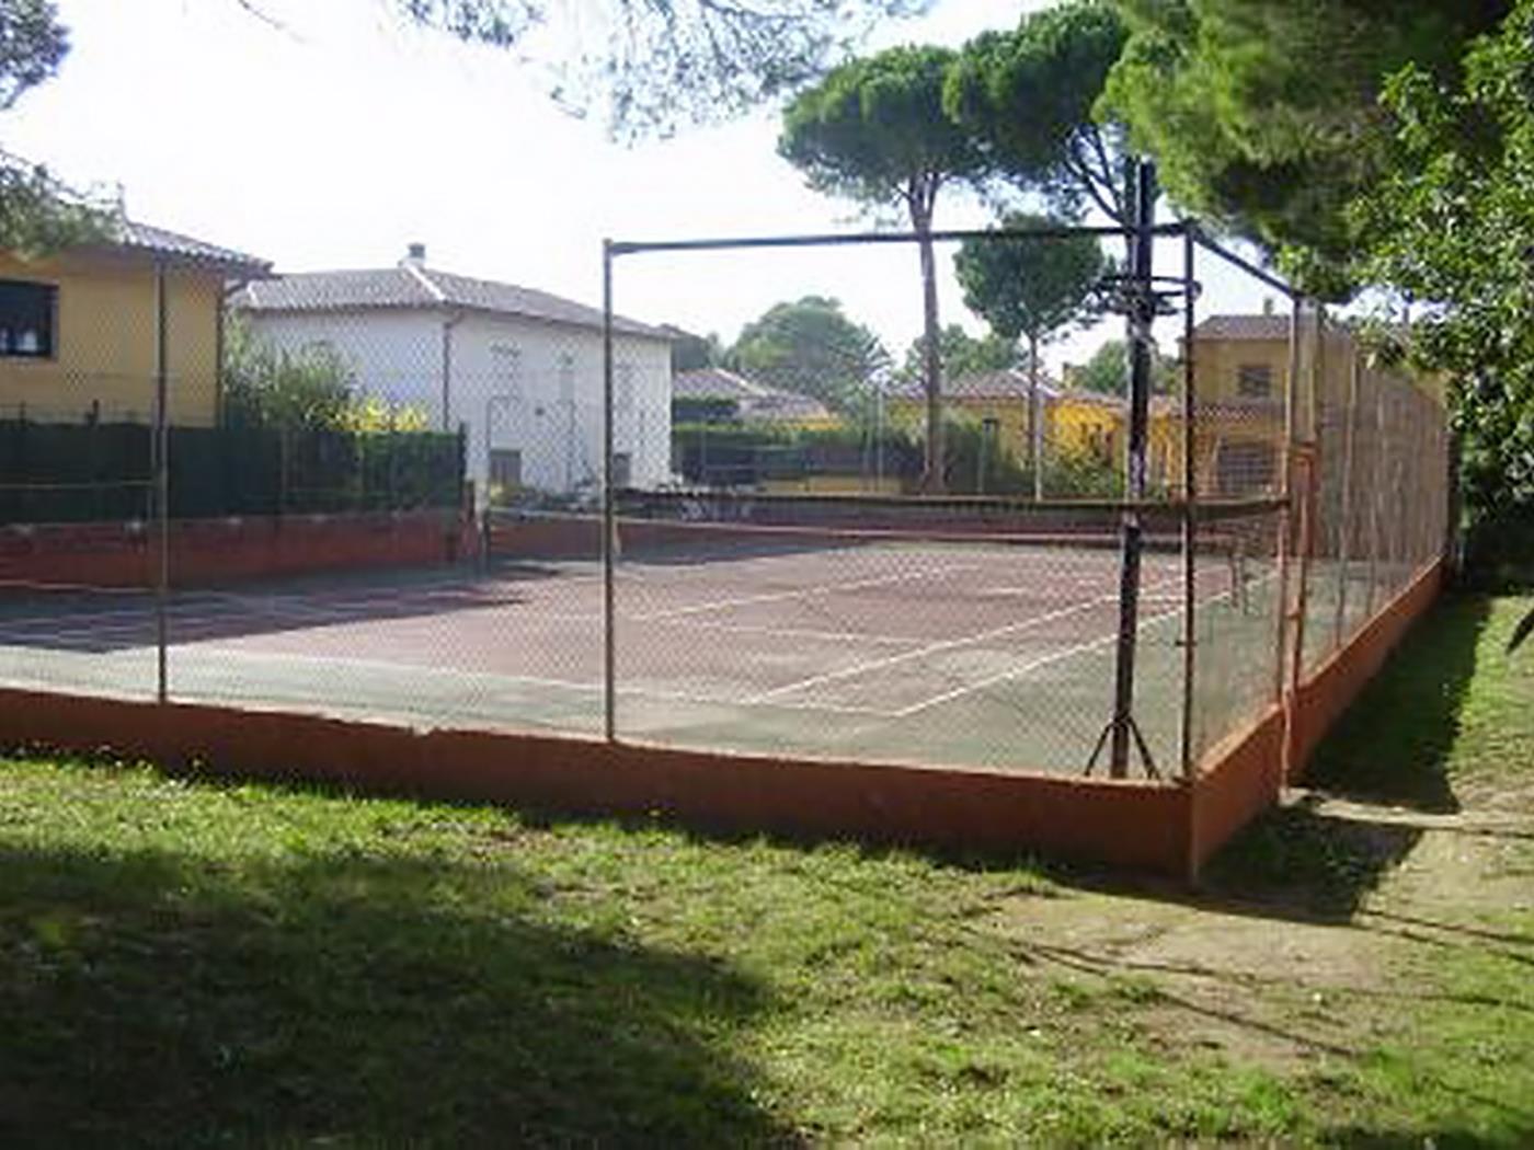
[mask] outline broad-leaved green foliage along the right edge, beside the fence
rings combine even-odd
[[[1471,46],[1460,83],[1420,64],[1390,80],[1390,173],[1355,212],[1368,274],[1422,302],[1411,351],[1451,379],[1473,535],[1534,521],[1531,34],[1522,0]]]

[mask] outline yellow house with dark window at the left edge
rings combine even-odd
[[[107,242],[38,259],[0,253],[0,419],[150,420],[163,287],[170,422],[212,426],[225,288],[268,268],[129,221]]]

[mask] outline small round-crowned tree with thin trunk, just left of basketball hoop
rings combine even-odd
[[[1048,216],[1011,215],[1014,230],[1057,225]],[[966,239],[954,256],[963,302],[1002,339],[1028,343],[1028,423],[1034,497],[1043,497],[1043,420],[1039,351],[1062,328],[1100,313],[1095,291],[1109,264],[1095,236],[1065,239]]]

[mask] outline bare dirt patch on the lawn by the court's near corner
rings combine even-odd
[[[1201,891],[1068,883],[992,926],[1081,994],[1132,1001],[1158,1049],[1292,1072],[1388,1040],[1422,948],[1534,903],[1534,811],[1514,805],[1430,816],[1295,794],[1233,854]]]

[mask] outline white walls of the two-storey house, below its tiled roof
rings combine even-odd
[[[443,426],[443,345],[448,419],[468,432],[468,471],[479,491],[515,475],[552,492],[601,483],[601,333],[489,313],[414,308],[350,313],[247,313],[273,347],[325,342],[356,371],[365,394],[408,403]],[[445,339],[446,331],[446,339]],[[670,345],[614,337],[614,452],[627,481],[670,478]],[[620,460],[620,475],[621,460]]]

